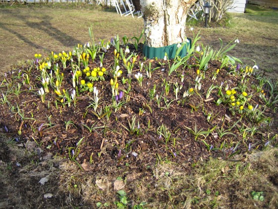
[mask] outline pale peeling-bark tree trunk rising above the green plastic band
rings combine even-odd
[[[163,47],[185,41],[185,23],[197,0],[140,0],[146,45]]]

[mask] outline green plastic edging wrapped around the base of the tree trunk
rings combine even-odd
[[[187,54],[187,50],[191,48],[191,39],[189,39],[189,42],[184,45],[178,56],[185,57]],[[143,54],[145,57],[152,59],[152,58],[158,58],[163,59],[165,56],[165,53],[167,53],[168,59],[173,59],[176,56],[177,52],[177,45],[178,44],[172,44],[170,46],[164,46],[164,47],[149,47],[147,45],[144,45],[143,47]]]

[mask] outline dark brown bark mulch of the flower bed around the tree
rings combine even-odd
[[[37,148],[33,160],[37,163],[43,162],[44,158],[51,153],[51,156],[70,159],[77,163],[80,169],[94,174],[123,174],[132,171],[132,173],[144,173],[145,176],[152,178],[149,168],[160,160],[177,163],[189,172],[198,161],[205,161],[211,157],[232,161],[244,160],[245,153],[255,149],[261,150],[268,141],[267,136],[278,132],[275,106],[266,108],[262,120],[256,123],[254,118],[242,117],[237,112],[233,114],[227,104],[216,105],[216,101],[220,98],[217,94],[218,90],[213,90],[206,99],[206,94],[212,84],[218,86],[223,84],[222,95],[225,95],[224,87],[228,86],[229,89],[238,87],[241,77],[230,73],[233,66],[220,69],[217,79],[212,80],[213,74],[219,69],[221,63],[210,61],[207,70],[201,71],[201,74],[205,74],[205,79],[201,80],[201,90],[196,92],[194,89],[191,96],[183,98],[183,93],[195,86],[198,67],[194,56],[185,66],[168,76],[168,61],[145,60],[141,45],[138,51],[133,45],[129,48],[138,54],[138,59],[133,68],[133,75],[127,74],[123,61],[120,60],[120,69],[123,74],[119,78],[121,80],[119,80],[119,92],[129,91],[128,82],[123,84],[122,78],[131,78],[131,89],[128,94],[124,93],[124,97],[119,101],[123,102],[123,105],[116,112],[113,107],[110,107],[110,110],[106,109],[108,113],[105,113],[105,108],[112,105],[110,80],[113,78],[114,47],[106,52],[103,51],[105,53],[103,59],[103,67],[106,68],[105,80],[93,83],[99,91],[100,98],[96,112],[89,107],[93,93],[82,92],[80,88],[78,88],[79,95],[75,106],[72,102],[70,106],[66,104],[65,99],[61,102],[61,98],[54,93],[55,86],[50,87],[50,93],[46,94],[45,102],[42,103],[38,95],[42,87],[41,72],[34,63],[26,64],[25,67],[17,68],[13,72],[7,72],[1,80],[0,90],[3,95],[11,89],[13,93],[5,95],[9,102],[0,105],[0,134],[12,137],[16,144],[22,145],[25,149],[28,149],[30,142],[35,142]],[[89,61],[90,69],[100,66],[100,60],[98,56],[96,57],[95,62]],[[73,60],[77,61],[77,58],[73,57]],[[42,61],[43,59],[40,60],[41,63]],[[172,62],[170,61],[170,64]],[[64,74],[61,92],[64,89],[71,93],[71,64],[67,62],[67,67],[63,68],[60,61],[57,63],[60,72]],[[151,65],[151,69],[157,68],[152,72],[151,78],[147,78],[146,71],[142,70],[142,87],[134,77],[139,72],[139,63]],[[55,65],[56,62],[52,61],[52,67]],[[80,70],[83,71],[83,69],[84,66],[81,64]],[[53,68],[51,70],[54,71]],[[47,70],[49,74],[51,70]],[[180,76],[183,73],[182,83]],[[22,84],[27,75],[30,84]],[[53,76],[55,76],[54,73]],[[81,79],[85,79],[85,76],[79,78],[79,84]],[[258,108],[263,109],[265,102],[255,88],[259,86],[260,80],[256,79],[254,74],[247,76],[246,80],[248,80],[246,92],[248,95],[253,95],[249,103],[254,107],[258,104]],[[170,84],[170,91],[166,96],[164,96],[165,82]],[[174,93],[174,84],[182,84],[178,99]],[[149,90],[154,85],[156,86],[155,95],[161,96],[159,105],[155,95],[151,98],[149,94]],[[19,94],[16,94],[16,88],[19,86]],[[269,86],[264,85],[262,90],[265,91],[265,97],[268,99],[270,97]],[[125,102],[128,96],[130,100]],[[143,112],[140,112],[140,109],[143,109]],[[210,120],[207,119],[209,113],[212,114]],[[110,117],[107,119],[109,114]],[[266,122],[268,117],[272,118],[269,123]],[[129,129],[129,123],[132,123],[133,118],[135,118],[136,130],[128,131],[125,127]],[[162,125],[169,131],[167,140],[165,139],[166,133],[159,133]],[[228,130],[232,126],[229,132],[234,135],[226,134],[220,137],[217,134],[216,130]],[[247,134],[243,138],[240,127],[253,127],[257,128],[257,131],[254,135]],[[189,128],[193,130],[196,128],[198,131],[213,131],[195,137]],[[272,143],[277,143],[277,141]],[[0,161],[5,162],[9,158],[10,153],[2,148]],[[12,166],[16,167],[15,163]],[[24,165],[24,161],[18,163]]]

